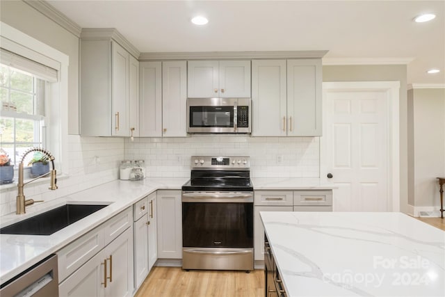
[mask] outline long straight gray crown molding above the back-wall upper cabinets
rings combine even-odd
[[[322,58],[327,51],[181,51],[140,53],[139,61],[261,58]]]

